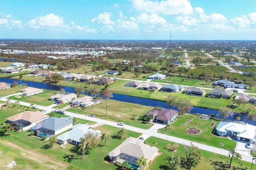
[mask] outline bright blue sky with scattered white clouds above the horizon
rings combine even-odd
[[[256,40],[255,0],[0,0],[0,38]]]

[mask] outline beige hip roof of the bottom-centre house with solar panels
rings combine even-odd
[[[144,144],[142,140],[129,137],[122,144],[112,150],[108,156],[116,157],[120,154],[128,154],[136,158],[144,156],[150,160],[158,152],[158,148]]]

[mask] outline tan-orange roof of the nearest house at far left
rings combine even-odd
[[[49,117],[48,115],[44,115],[44,113],[40,112],[40,111],[24,111],[22,113],[19,113],[17,115],[11,116],[6,118],[6,120],[15,122],[18,120],[25,120],[25,121],[29,121],[30,123],[33,123],[35,121],[38,121],[40,119],[44,119],[46,117]]]

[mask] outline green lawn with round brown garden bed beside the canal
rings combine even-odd
[[[195,119],[192,119],[192,121],[190,121],[189,123],[185,123],[188,119],[192,117],[195,117]],[[203,120],[200,119],[199,116],[186,114],[184,117],[178,117],[178,119],[171,124],[170,130],[168,130],[168,128],[162,128],[158,130],[158,132],[165,132],[170,136],[191,140],[194,142],[214,146],[217,148],[235,148],[236,142],[228,138],[220,138],[212,134],[212,130],[214,129],[214,127],[210,128],[210,124],[212,123],[212,121],[215,123],[214,127],[216,127],[216,125],[218,125],[220,122],[220,120],[217,119]],[[196,123],[199,123],[201,125],[196,125]],[[192,135],[187,133],[186,129],[191,127],[199,128],[201,130],[200,134]],[[219,145],[221,142],[224,143],[224,146]]]

